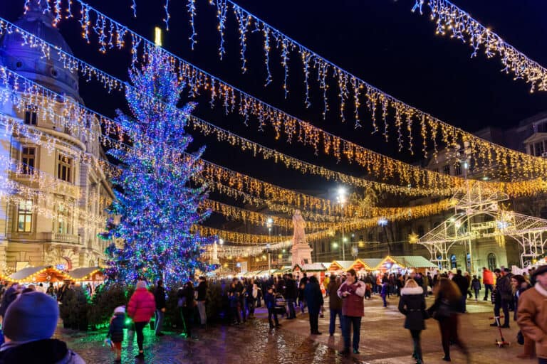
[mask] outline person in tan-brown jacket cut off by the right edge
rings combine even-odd
[[[524,335],[536,341],[539,364],[547,364],[547,265],[533,272],[536,284],[519,298],[516,322]]]

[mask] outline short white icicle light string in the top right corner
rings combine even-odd
[[[412,12],[427,4],[431,10],[429,18],[437,25],[435,33],[449,35],[473,48],[471,57],[476,57],[484,49],[486,58],[499,57],[504,73],[512,73],[514,80],[524,80],[530,84],[530,92],[547,91],[547,70],[535,60],[504,41],[500,36],[476,21],[467,11],[463,11],[447,0],[416,0]]]

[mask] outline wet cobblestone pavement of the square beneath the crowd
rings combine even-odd
[[[298,312],[296,320],[281,319],[282,327],[269,330],[264,309],[258,309],[257,319],[241,326],[214,326],[197,330],[197,339],[188,340],[167,333],[162,338],[145,328],[145,360],[135,360],[136,343],[123,343],[123,363],[370,363],[399,364],[414,363],[410,333],[402,328],[403,318],[397,311],[398,299],[390,299],[387,308],[381,300],[373,297],[365,301],[365,317],[361,326],[360,355],[345,358],[338,355],[342,346],[340,328],[335,336],[328,336],[328,312],[319,319],[321,336],[309,336],[308,315]],[[503,329],[509,348],[497,348],[494,340],[499,337],[497,328],[491,323],[490,302],[468,301],[468,314],[461,316],[460,336],[472,352],[472,363],[498,363],[503,360],[513,363],[537,363],[536,360],[519,360],[516,355],[522,347],[516,343],[518,328],[511,320],[511,328]],[[427,299],[427,306],[432,299]],[[512,314],[512,313],[511,313]],[[79,353],[88,364],[112,363],[113,356],[102,346],[105,332],[75,333],[59,329],[57,337],[68,342],[68,346]],[[127,335],[126,335],[127,336]],[[424,363],[442,362],[442,347],[439,328],[434,320],[427,321],[422,333]],[[464,356],[452,348],[452,363],[465,363]]]

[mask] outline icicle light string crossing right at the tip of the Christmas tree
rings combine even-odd
[[[123,48],[125,43],[131,44],[132,65],[135,65],[139,54],[148,54],[152,49],[156,49],[154,43],[137,33],[130,31],[122,24],[113,21],[108,16],[100,13],[79,0],[73,0],[81,6],[80,21],[82,25],[82,36],[86,41],[91,41],[90,32],[97,35],[99,50],[105,52],[112,48]],[[91,25],[90,16],[95,16],[95,26]],[[55,14],[60,20],[61,14]],[[78,15],[72,15],[78,16]],[[125,42],[128,37],[130,41]],[[107,39],[112,40],[106,41]],[[340,139],[333,134],[314,127],[308,122],[286,114],[281,109],[273,107],[243,92],[236,87],[226,84],[217,77],[204,72],[191,63],[182,60],[182,58],[159,48],[162,55],[171,63],[179,73],[179,79],[186,83],[189,95],[196,96],[199,92],[207,91],[211,95],[211,102],[222,103],[224,112],[238,112],[242,119],[248,120],[249,117],[256,117],[260,129],[264,130],[266,123],[276,132],[276,138],[285,134],[288,142],[298,141],[304,145],[312,146],[318,154],[323,151],[325,154],[332,155],[340,160],[343,156],[349,161],[355,161],[362,166],[368,174],[387,181],[392,178],[397,179],[399,184],[406,186],[411,184],[420,188],[443,188],[448,185],[452,187],[462,186],[462,178],[447,176],[442,173],[427,171],[410,164],[405,164],[396,159],[383,156],[369,149],[363,148],[358,144]],[[78,65],[74,65],[77,67]],[[424,120],[425,121],[425,120]],[[427,123],[423,124],[424,131],[427,129]],[[435,133],[436,134],[436,133]],[[447,137],[452,137],[448,135]],[[454,141],[455,142],[455,141]]]

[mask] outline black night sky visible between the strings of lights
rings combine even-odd
[[[22,13],[23,3],[23,0],[0,1],[1,16],[16,20]],[[338,104],[334,102],[338,95],[335,87],[331,87],[333,105],[327,119],[323,120],[321,116],[323,102],[319,92],[312,93],[313,107],[306,109],[303,106],[301,60],[296,58],[297,53],[293,53],[290,60],[291,92],[288,100],[283,98],[283,68],[276,50],[271,53],[274,82],[264,87],[266,73],[259,35],[249,36],[246,51],[249,71],[242,75],[233,14],[229,14],[226,24],[226,55],[224,60],[219,60],[216,8],[209,6],[206,0],[197,0],[195,21],[199,43],[192,51],[188,41],[187,2],[170,3],[170,31],[165,33],[164,39],[167,50],[340,137],[382,154],[412,161],[410,156],[395,154],[397,145],[394,138],[386,144],[381,134],[370,134],[370,114],[362,113],[362,129],[354,129],[351,117],[346,124],[341,124],[335,107]],[[164,27],[164,1],[137,0],[137,18],[132,17],[131,0],[89,1],[89,4],[150,39],[153,38],[154,26]],[[511,75],[500,73],[499,58],[488,60],[479,53],[472,59],[469,45],[435,36],[434,23],[429,21],[429,17],[410,11],[413,0],[239,0],[238,4],[380,90],[469,132],[486,126],[512,127],[523,118],[547,110],[547,92],[531,94],[525,82],[514,81]],[[528,57],[547,66],[547,22],[543,18],[547,14],[546,1],[454,0],[454,4],[469,11]],[[63,22],[60,28],[78,58],[127,79],[128,50],[113,50],[102,55],[96,44],[87,45],[82,41],[78,24],[74,21]],[[114,115],[116,107],[125,107],[121,95],[108,95],[95,83],[86,84],[80,80],[80,90],[88,107],[109,116]],[[211,110],[208,100],[198,98],[197,102],[198,116],[232,132],[315,164],[362,174],[356,166],[345,162],[337,166],[331,157],[314,156],[307,147],[275,141],[271,129],[261,133],[256,123],[245,127],[238,117],[224,116],[222,107]],[[206,159],[281,186],[299,189],[335,186],[333,181],[303,177],[301,173],[288,171],[271,161],[252,159],[250,154],[232,149],[227,144],[217,144],[210,138],[196,136],[195,142],[196,146],[207,144]]]

